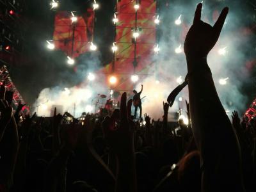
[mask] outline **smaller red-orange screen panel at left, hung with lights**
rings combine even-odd
[[[74,59],[92,49],[95,12],[88,8],[84,13],[60,11],[56,13],[53,44]],[[51,43],[51,40],[49,41]],[[96,48],[97,49],[97,48]]]

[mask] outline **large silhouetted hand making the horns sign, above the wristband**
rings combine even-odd
[[[227,17],[228,8],[224,8],[220,14],[220,17],[212,27],[211,25],[201,20],[202,3],[199,3],[196,7],[195,17],[193,25],[188,31],[184,43],[184,52],[188,60],[188,70],[190,72],[193,68],[197,68],[198,63],[190,63],[190,60],[206,58],[208,53],[214,47],[221,33],[221,29]]]

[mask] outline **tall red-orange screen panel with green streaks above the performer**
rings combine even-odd
[[[111,90],[131,92],[136,83],[150,75],[156,54],[156,9],[154,0],[116,2],[113,62],[102,69],[108,77],[116,77],[116,81],[109,83]]]

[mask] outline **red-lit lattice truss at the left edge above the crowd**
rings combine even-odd
[[[5,82],[5,84],[6,84],[6,90],[13,92],[13,105],[15,107],[14,109],[17,108],[17,106],[19,105],[19,102],[21,104],[26,103],[26,102],[24,102],[24,100],[22,99],[19,91],[15,87],[15,84],[12,82],[10,74],[9,74],[5,65],[0,68],[0,84],[3,84],[3,82]],[[24,106],[24,108],[22,108],[21,113],[23,115],[26,115],[27,113],[29,113],[28,106]]]

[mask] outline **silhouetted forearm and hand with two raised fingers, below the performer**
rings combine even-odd
[[[132,100],[126,105],[126,93],[122,94],[120,118],[107,116],[102,122],[104,136],[117,157],[116,192],[136,192],[136,168],[134,155],[134,122],[131,120]],[[115,115],[116,115],[115,111]]]

